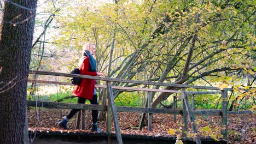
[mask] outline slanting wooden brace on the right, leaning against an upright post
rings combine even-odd
[[[188,115],[189,115],[189,118],[190,118],[192,129],[194,131],[194,134],[196,134],[196,143],[197,144],[201,144],[200,137],[197,135],[197,128],[196,128],[195,118],[194,118],[193,112],[190,109],[188,95],[185,93],[185,89],[184,88],[182,88],[182,96],[183,96],[183,100],[184,100],[185,106],[187,108],[187,112],[188,112]]]

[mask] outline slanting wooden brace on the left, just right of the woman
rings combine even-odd
[[[114,101],[114,95],[113,95],[113,89],[111,87],[111,83],[107,82],[107,89],[108,89],[108,97],[109,97],[109,105],[111,105],[111,110],[113,114],[114,119],[114,125],[115,125],[115,135],[117,136],[117,141],[119,144],[123,144],[123,140],[121,137],[121,131],[118,123],[118,115],[117,115],[117,109],[115,108],[115,101]]]

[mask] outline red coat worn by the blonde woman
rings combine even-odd
[[[82,75],[91,75],[91,76],[97,76],[96,71],[90,71],[90,63],[89,58],[84,57],[83,63],[80,65],[81,74]],[[82,79],[80,85],[77,85],[74,89],[73,95],[75,97],[82,97],[85,99],[92,100],[92,97],[94,95],[94,89],[95,89],[95,80],[92,79]]]

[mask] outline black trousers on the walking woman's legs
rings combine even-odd
[[[85,98],[80,98],[78,97],[78,104],[84,104],[85,103]],[[94,97],[92,97],[92,100],[90,100],[90,103],[92,105],[98,105],[98,101],[97,101],[97,94],[94,95]],[[77,113],[79,111],[79,109],[72,109],[68,115],[67,118],[71,119],[75,113]],[[98,118],[98,111],[97,110],[92,110],[91,111],[91,116],[92,116],[92,122],[96,123],[97,122],[97,118]]]

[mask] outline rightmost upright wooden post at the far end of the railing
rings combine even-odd
[[[222,135],[226,136],[226,131],[228,129],[228,90],[222,90]]]

